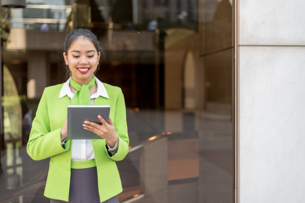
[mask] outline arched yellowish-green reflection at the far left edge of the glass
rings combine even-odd
[[[3,127],[6,157],[1,157],[4,188],[8,190],[22,186],[22,158],[19,149],[21,137],[21,105],[14,79],[3,66]],[[20,198],[22,200],[22,197]]]

